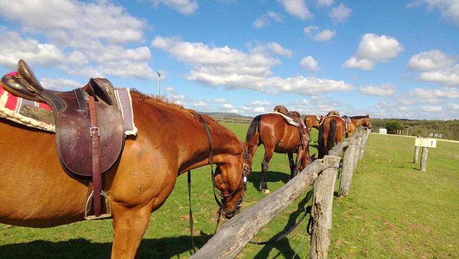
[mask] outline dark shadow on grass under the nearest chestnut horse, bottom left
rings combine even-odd
[[[212,237],[201,233],[194,237],[196,247],[202,247]],[[5,258],[110,258],[112,243],[93,243],[83,238],[69,241],[33,241],[30,243],[0,246],[0,255]],[[188,252],[188,253],[187,253]],[[180,254],[193,255],[191,237],[171,237],[162,239],[143,239],[138,258],[180,258]],[[0,256],[1,257],[1,256]]]

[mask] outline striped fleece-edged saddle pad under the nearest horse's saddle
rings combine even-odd
[[[118,101],[119,107],[121,109],[121,114],[123,116],[125,135],[136,135],[137,128],[134,125],[132,100],[129,89],[126,87],[116,87],[115,97]],[[39,107],[51,111],[51,107],[49,107],[47,104],[15,97],[0,85],[0,117],[28,127],[56,132],[55,125],[44,123],[42,121],[35,120],[31,117],[20,114],[22,107],[25,105]]]

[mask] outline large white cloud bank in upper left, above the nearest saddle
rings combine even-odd
[[[18,33],[9,33],[0,43],[0,62],[16,63],[22,58],[29,63],[57,64],[70,75],[95,75],[91,70],[98,70],[98,75],[155,78],[148,66],[149,49],[123,46],[143,41],[146,21],[131,16],[121,6],[109,1],[67,0],[46,3],[18,0],[14,5],[0,0],[0,4],[9,6],[8,12],[2,13],[5,19],[17,23],[28,37],[40,38],[23,39]],[[65,54],[68,49],[73,50]]]

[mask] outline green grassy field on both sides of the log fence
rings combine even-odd
[[[223,124],[245,138],[247,124]],[[459,258],[459,143],[439,140],[437,148],[429,148],[427,171],[421,172],[419,162],[413,163],[414,142],[412,137],[370,135],[349,196],[335,197],[328,258]],[[316,145],[310,145],[311,154],[317,153]],[[254,157],[244,207],[266,196],[259,191],[263,152],[260,147]],[[282,187],[289,175],[287,155],[275,154],[268,172],[270,191]],[[179,177],[163,207],[151,214],[141,258],[192,255],[186,181],[186,176]],[[339,179],[335,191],[338,187]],[[198,248],[216,227],[218,207],[212,192],[210,166],[193,170],[191,199]],[[310,203],[311,188],[253,241],[281,236]],[[248,244],[238,258],[309,258],[306,228],[303,221],[279,242]],[[109,258],[112,237],[112,220],[45,229],[0,224],[0,258]]]

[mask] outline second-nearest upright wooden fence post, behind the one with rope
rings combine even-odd
[[[348,146],[344,148],[343,169],[341,170],[340,190],[338,192],[338,195],[340,197],[349,194],[352,182],[352,173],[354,171],[354,157],[356,156],[357,150],[356,138],[346,138],[344,139],[344,142],[346,141],[349,143]]]

